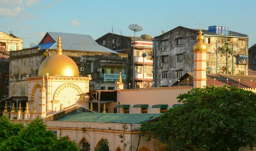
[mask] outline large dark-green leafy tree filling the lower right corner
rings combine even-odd
[[[141,131],[169,149],[238,151],[256,144],[256,94],[237,87],[193,88],[160,120],[143,123]],[[189,146],[189,147],[188,147]]]

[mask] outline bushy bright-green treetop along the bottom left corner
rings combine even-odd
[[[79,148],[67,137],[57,138],[47,130],[42,119],[36,118],[17,136],[3,140],[0,151],[79,151]]]

